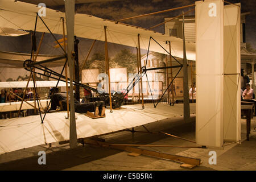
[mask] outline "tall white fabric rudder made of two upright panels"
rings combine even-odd
[[[196,2],[196,143],[241,140],[240,8]]]

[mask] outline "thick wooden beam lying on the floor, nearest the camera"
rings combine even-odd
[[[155,151],[144,150],[144,149],[129,147],[129,146],[112,146],[111,144],[106,143],[106,142],[99,142],[99,141],[90,140],[90,139],[84,139],[84,143],[93,144],[96,146],[110,147],[110,148],[114,148],[117,150],[123,150],[123,151],[128,151],[128,152],[134,152],[137,154],[152,156],[155,158],[174,160],[177,162],[191,164],[194,166],[200,166],[200,162],[201,162],[200,159],[188,158],[188,157],[180,156],[180,155],[164,154],[162,152],[155,152]]]

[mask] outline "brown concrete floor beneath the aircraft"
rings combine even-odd
[[[159,121],[145,125],[150,131],[165,131],[179,137],[195,140],[195,115],[188,123],[180,118],[168,121]],[[256,117],[251,120],[250,140],[246,138],[246,120],[242,118],[242,144],[230,144],[224,149],[215,148],[163,148],[139,147],[147,150],[189,156],[201,159],[201,166],[192,170],[256,170]],[[135,130],[145,131],[143,127]],[[168,137],[163,134],[134,133],[123,131],[120,133],[104,135],[102,138],[108,143],[123,144],[163,144],[163,145],[189,145],[191,142]],[[46,165],[38,164],[38,151],[46,151]],[[217,164],[210,165],[209,151],[217,152]],[[71,150],[68,144],[53,143],[35,146],[0,155],[0,170],[85,170],[85,171],[172,171],[188,170],[180,168],[180,163],[171,160],[152,158],[150,156],[129,156],[128,152],[110,148],[92,147],[85,145]]]

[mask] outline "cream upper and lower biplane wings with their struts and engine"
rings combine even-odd
[[[180,38],[160,34],[159,32],[148,30],[146,28],[131,26],[129,24],[121,23],[121,21],[101,19],[93,15],[75,14],[75,1],[72,0],[65,0],[65,13],[45,8],[44,11],[46,12],[46,16],[40,16],[38,13],[40,8],[42,7],[19,1],[0,1],[0,27],[1,30],[4,31],[4,34],[2,32],[1,35],[17,36],[32,32],[31,55],[26,55],[23,59],[19,57],[19,59],[16,60],[12,60],[13,57],[10,56],[5,56],[5,58],[1,59],[1,64],[6,64],[8,61],[13,61],[13,63],[16,61],[16,63],[22,64],[23,68],[31,73],[32,81],[2,82],[0,87],[33,87],[36,90],[36,88],[39,88],[40,86],[65,87],[69,85],[70,89],[73,90],[73,85],[75,85],[98,93],[97,88],[82,84],[73,77],[73,75],[75,75],[73,68],[76,57],[76,52],[74,50],[74,35],[76,35],[77,38],[87,38],[105,42],[105,60],[107,65],[106,68],[108,68],[106,73],[108,76],[108,42],[124,46],[138,47],[138,57],[141,57],[140,50],[145,49],[147,51],[170,55],[174,59],[175,57],[183,59],[184,55],[188,60],[196,59],[195,43],[184,42],[184,40]],[[56,23],[60,22],[60,20],[63,22],[63,28],[53,28],[56,26]],[[64,24],[66,26],[64,26]],[[36,44],[36,32],[48,32],[51,34],[63,54],[54,56],[39,55],[38,52],[40,46],[37,47]],[[67,32],[67,36],[65,35],[65,32]],[[55,35],[63,35],[63,37],[65,37],[62,40],[64,43],[60,44],[59,40],[55,38]],[[111,39],[108,39],[110,35]],[[67,44],[65,43],[66,41]],[[140,44],[142,41],[148,42],[148,44]],[[172,54],[167,50],[170,50]],[[3,54],[8,55],[9,53],[3,52]],[[56,72],[51,68],[46,67],[44,64],[47,63],[62,64],[63,67],[61,72]],[[69,73],[67,74],[69,76],[64,75],[64,73],[67,73],[66,65],[69,67]],[[147,68],[140,65],[137,75],[126,88],[126,94],[133,89],[135,84],[139,84],[139,81],[146,75],[147,71],[166,68],[181,69],[182,67],[183,65],[181,63],[176,67],[162,68]],[[55,81],[35,81],[33,78],[34,74],[48,76]],[[108,84],[110,84],[110,78],[108,81]],[[70,116],[68,117],[67,111],[53,113],[45,112],[45,109],[46,107],[49,107],[51,100],[41,99],[41,104],[39,104],[39,98],[36,97],[36,93],[36,99],[34,101],[24,102],[23,106],[21,106],[22,102],[0,104],[0,111],[9,111],[11,109],[17,111],[20,109],[38,110],[38,114],[36,115],[1,120],[0,154],[52,142],[69,141],[71,147],[76,147],[77,139],[90,138],[95,135],[108,134],[115,131],[129,130],[133,127],[142,126],[147,123],[160,121],[170,117],[180,117],[180,115],[183,114],[182,108],[178,109],[181,113],[172,113],[170,106],[159,104],[160,100],[156,103],[156,105],[159,104],[158,107],[156,107],[154,103],[154,106],[143,106],[143,110],[141,110],[138,108],[140,106],[131,105],[127,106],[126,109],[113,111],[114,105],[116,107],[122,106],[123,97],[125,97],[126,94],[113,94],[111,92],[102,93],[101,96],[105,100],[108,100],[107,105],[110,106],[110,110],[106,110],[105,117],[98,119],[87,117],[85,114],[75,113],[73,94],[70,94]],[[9,109],[7,107],[9,107]]]

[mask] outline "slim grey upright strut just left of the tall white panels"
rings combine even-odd
[[[187,55],[185,48],[185,32],[184,32],[184,15],[183,15],[183,107],[184,107],[184,121],[188,121],[190,118],[189,109],[189,95],[188,95],[188,65]]]

